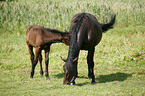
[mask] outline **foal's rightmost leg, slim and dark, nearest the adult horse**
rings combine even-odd
[[[47,48],[47,49],[45,49],[45,65],[46,65],[46,73],[45,73],[45,76],[46,76],[46,79],[49,79],[49,73],[48,73],[49,50],[50,50],[50,47]]]

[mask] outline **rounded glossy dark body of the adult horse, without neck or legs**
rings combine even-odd
[[[82,50],[88,50],[96,46],[102,38],[101,26],[97,18],[89,13],[78,13],[71,20],[71,28],[75,26],[75,21],[84,15],[83,22],[78,32],[78,45]],[[70,30],[71,30],[70,28]]]

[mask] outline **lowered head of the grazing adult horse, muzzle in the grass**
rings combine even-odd
[[[70,81],[72,80],[73,76],[76,75],[76,64],[77,64],[77,59],[75,58],[74,60],[66,60],[61,57],[61,59],[65,62],[63,65],[63,70],[64,70],[64,81],[63,84],[70,84]]]

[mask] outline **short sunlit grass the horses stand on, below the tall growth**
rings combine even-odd
[[[2,96],[145,95],[144,30],[142,26],[116,28],[103,34],[103,39],[95,51],[96,84],[94,85],[87,78],[87,52],[81,51],[78,65],[79,78],[76,79],[75,86],[62,84],[64,62],[60,56],[67,56],[68,46],[52,45],[50,80],[46,80],[45,76],[40,77],[39,64],[36,66],[34,79],[30,79],[31,63],[25,35],[2,34],[0,35],[0,94]]]

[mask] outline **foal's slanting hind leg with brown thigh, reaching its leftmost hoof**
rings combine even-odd
[[[40,51],[41,51],[41,49],[39,47],[35,48],[35,58],[34,58],[33,63],[32,63],[31,77],[30,78],[33,78],[33,76],[34,76],[34,70],[35,70],[35,67],[38,63],[38,57],[39,57]]]

